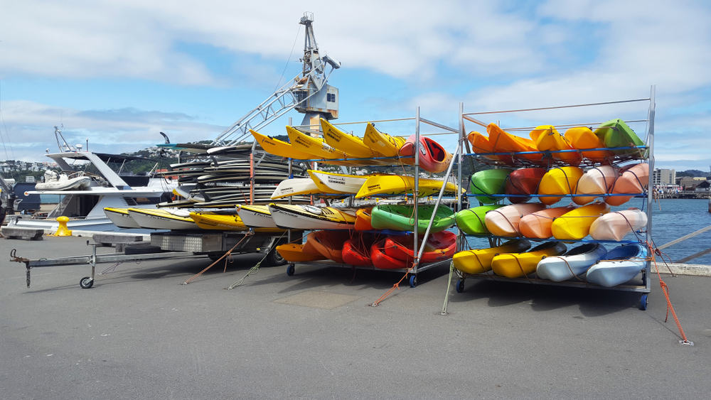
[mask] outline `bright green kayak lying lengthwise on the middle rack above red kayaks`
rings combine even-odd
[[[370,225],[373,229],[392,229],[412,231],[415,220],[412,218],[412,205],[376,205],[370,212]],[[417,209],[417,232],[424,233],[432,217],[434,205],[420,205]],[[446,205],[437,207],[432,229],[429,232],[440,232],[454,225],[454,212]]]

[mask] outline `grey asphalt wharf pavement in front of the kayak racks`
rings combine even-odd
[[[466,281],[440,315],[448,267],[400,274],[262,267],[235,256],[32,270],[18,256],[88,254],[82,237],[0,239],[5,399],[707,398],[710,278],[656,276],[648,310],[616,291]],[[100,252],[113,252],[100,248]]]

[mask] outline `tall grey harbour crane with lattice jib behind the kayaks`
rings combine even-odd
[[[299,21],[305,30],[301,72],[225,129],[213,140],[213,145],[237,144],[250,136],[250,129],[259,131],[292,109],[304,114],[301,125],[315,129],[318,129],[319,118],[338,118],[338,88],[328,85],[328,77],[341,67],[341,63],[319,54],[313,23],[314,13],[310,12],[305,12]]]

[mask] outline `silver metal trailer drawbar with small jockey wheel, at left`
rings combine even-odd
[[[96,247],[101,246],[99,243],[90,243],[87,240],[87,246],[92,247],[92,254],[87,254],[85,256],[69,256],[69,257],[58,257],[58,258],[41,258],[41,259],[28,259],[17,255],[17,250],[12,249],[10,251],[10,261],[19,262],[25,264],[26,269],[26,281],[27,287],[30,287],[30,276],[31,270],[33,268],[47,267],[47,266],[66,266],[66,265],[86,265],[91,266],[90,276],[85,276],[79,281],[79,286],[82,289],[88,289],[94,286],[95,276],[96,276],[96,264],[112,263],[112,262],[124,262],[124,261],[143,261],[143,260],[158,260],[158,259],[173,259],[173,258],[186,258],[196,256],[192,252],[157,252],[157,253],[145,253],[145,254],[96,254]]]

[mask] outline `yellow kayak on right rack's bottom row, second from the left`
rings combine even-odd
[[[535,272],[544,256],[560,256],[565,250],[562,242],[545,242],[525,253],[498,254],[491,260],[491,269],[496,275],[520,278]]]

